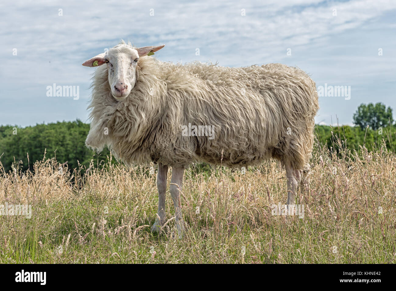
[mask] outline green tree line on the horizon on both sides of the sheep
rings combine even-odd
[[[318,143],[327,146],[329,150],[339,151],[341,147],[359,150],[365,145],[371,151],[386,143],[388,149],[395,151],[396,135],[392,118],[392,108],[386,108],[381,103],[360,105],[353,116],[356,126],[315,126]],[[56,122],[37,124],[18,128],[17,126],[0,126],[0,162],[6,172],[16,162],[22,170],[33,171],[33,164],[46,158],[56,157],[60,163],[67,163],[69,169],[88,167],[91,160],[100,164],[107,162],[110,152],[105,148],[97,154],[85,146],[89,124],[80,120],[73,122]],[[29,160],[28,160],[29,155]]]

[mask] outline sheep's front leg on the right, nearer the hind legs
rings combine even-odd
[[[181,201],[180,192],[183,187],[183,167],[172,167],[172,179],[170,185],[171,196],[173,205],[175,206],[175,224],[177,229],[178,238],[182,238],[183,232],[185,232],[185,222],[181,215]]]

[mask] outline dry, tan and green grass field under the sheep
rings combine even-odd
[[[296,202],[303,218],[272,215],[287,199],[274,160],[246,171],[190,167],[182,239],[172,235],[171,171],[169,221],[153,235],[155,165],[92,162],[84,179],[55,160],[36,162],[34,174],[15,165],[0,175],[0,204],[31,205],[31,218],[0,216],[0,263],[394,263],[396,156],[384,146],[338,156],[318,147],[310,164]]]

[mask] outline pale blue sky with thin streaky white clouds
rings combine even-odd
[[[89,122],[95,68],[81,64],[120,39],[165,44],[160,61],[299,67],[326,89],[317,124],[351,125],[361,103],[396,110],[396,1],[2,0],[0,27],[0,125]]]

